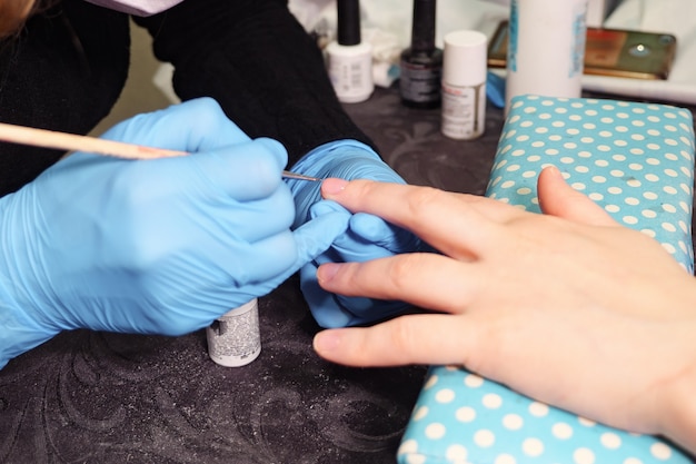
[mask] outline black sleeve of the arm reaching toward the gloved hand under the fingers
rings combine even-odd
[[[157,58],[173,65],[182,100],[215,98],[250,137],[280,140],[290,164],[331,140],[371,145],[336,98],[321,51],[286,0],[186,0],[135,20],[150,31]]]

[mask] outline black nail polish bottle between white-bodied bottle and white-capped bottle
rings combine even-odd
[[[435,47],[436,0],[414,0],[410,47],[401,52],[399,92],[411,108],[440,105],[443,50]]]

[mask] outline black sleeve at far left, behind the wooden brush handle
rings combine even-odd
[[[128,16],[82,0],[52,4],[19,37],[0,41],[0,121],[87,134],[111,111],[126,83]],[[0,196],[62,155],[0,142]]]

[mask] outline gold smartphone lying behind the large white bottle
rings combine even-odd
[[[488,45],[488,66],[505,68],[508,21],[503,21]],[[634,79],[667,79],[677,50],[670,33],[587,28],[586,75]]]

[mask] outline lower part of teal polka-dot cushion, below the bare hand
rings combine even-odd
[[[687,464],[660,440],[623,432],[455,367],[432,367],[399,464]]]

